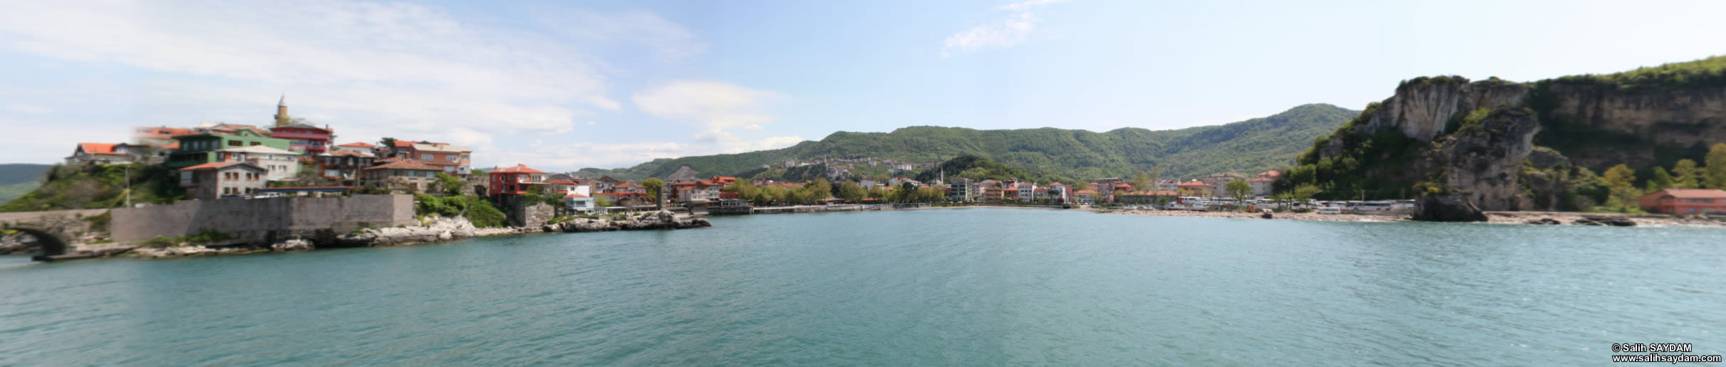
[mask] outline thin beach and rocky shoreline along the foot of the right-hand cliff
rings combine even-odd
[[[1103,214],[1153,215],[1153,217],[1234,217],[1262,219],[1251,212],[1191,212],[1191,210],[1099,210]],[[1583,212],[1484,212],[1486,222],[1498,224],[1564,224],[1564,226],[1654,226],[1654,227],[1726,227],[1726,222],[1705,217],[1672,217],[1657,214],[1583,214]],[[1412,221],[1408,215],[1365,215],[1365,214],[1294,214],[1279,212],[1272,219],[1319,221],[1319,222],[1402,222]]]

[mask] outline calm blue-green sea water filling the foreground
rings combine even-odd
[[[1726,353],[1726,229],[906,210],[0,257],[0,365],[1578,365]]]

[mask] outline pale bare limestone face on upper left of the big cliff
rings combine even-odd
[[[1469,83],[1455,76],[1417,78],[1396,86],[1396,95],[1381,102],[1377,114],[1357,128],[1365,133],[1395,129],[1408,138],[1433,141],[1446,131],[1452,117],[1521,103],[1528,91],[1526,84],[1498,79]]]

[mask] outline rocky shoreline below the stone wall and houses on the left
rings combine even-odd
[[[407,245],[454,241],[463,238],[506,236],[506,234],[525,234],[525,233],[647,231],[647,229],[690,229],[690,227],[711,227],[711,226],[713,224],[708,222],[708,219],[680,219],[675,214],[665,210],[632,215],[625,221],[571,219],[568,222],[545,224],[540,227],[475,227],[473,222],[468,222],[468,219],[464,217],[432,217],[426,221],[425,226],[366,227],[326,239],[290,238],[287,241],[273,243],[269,246],[211,248],[202,245],[183,243],[183,245],[159,246],[159,248],[155,246],[124,248],[98,255],[171,258],[171,257],[197,257],[197,255],[299,252],[299,250],[318,250],[318,248],[407,246]]]

